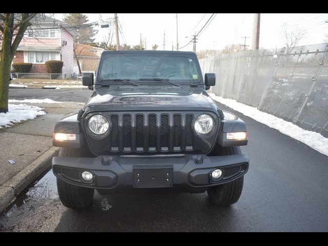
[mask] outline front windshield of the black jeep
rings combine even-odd
[[[98,69],[100,81],[166,78],[198,82],[194,57],[187,54],[106,54]]]

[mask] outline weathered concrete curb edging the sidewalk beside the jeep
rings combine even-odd
[[[50,166],[52,157],[57,156],[58,151],[58,147],[51,147],[31,162],[29,166],[0,186],[0,213],[8,208],[16,196]]]

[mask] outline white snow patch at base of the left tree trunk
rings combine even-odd
[[[13,123],[20,122],[21,120],[34,119],[37,115],[45,115],[42,108],[35,106],[28,106],[26,104],[9,104],[7,113],[0,113],[0,128],[10,127]]]

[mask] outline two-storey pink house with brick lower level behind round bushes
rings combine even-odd
[[[47,73],[47,60],[61,60],[64,77],[70,77],[74,73],[73,37],[77,32],[48,16],[35,19],[35,23],[25,32],[13,63],[32,63],[30,73]]]

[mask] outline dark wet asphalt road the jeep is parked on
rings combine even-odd
[[[95,193],[91,208],[73,211],[61,205],[50,171],[0,216],[0,231],[327,232],[328,157],[233,112],[248,127],[241,150],[250,169],[232,206],[215,207],[207,193]]]

